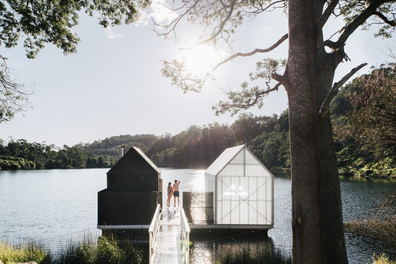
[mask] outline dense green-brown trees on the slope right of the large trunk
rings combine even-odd
[[[334,98],[332,121],[339,172],[396,179],[395,64],[354,79]]]

